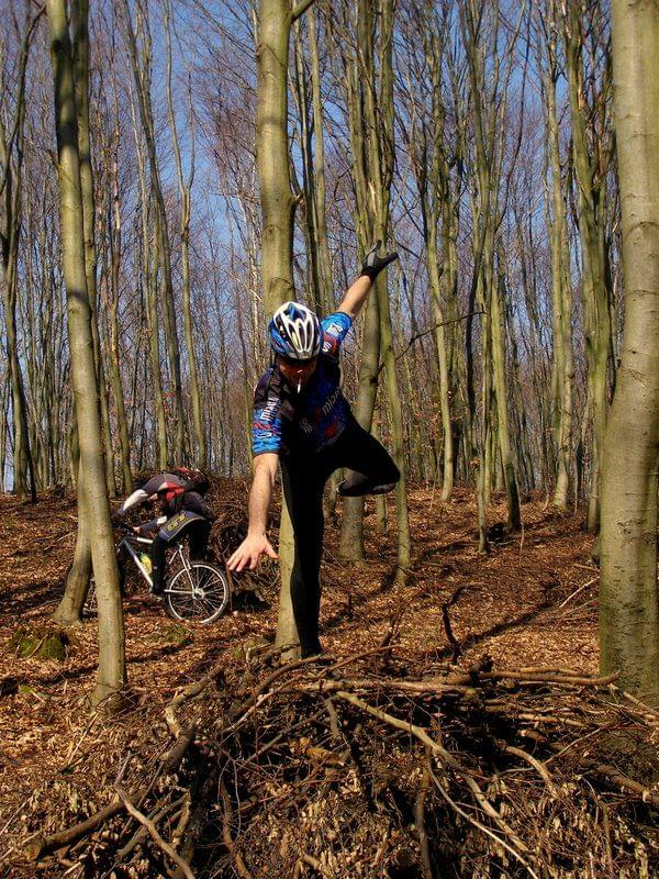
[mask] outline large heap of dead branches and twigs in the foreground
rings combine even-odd
[[[129,755],[109,805],[33,834],[22,863],[74,877],[657,875],[659,712],[612,679],[488,661],[415,676],[391,647],[276,659],[179,692],[158,759]]]

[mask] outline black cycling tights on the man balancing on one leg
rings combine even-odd
[[[328,448],[312,454],[282,456],[283,492],[295,542],[291,574],[291,602],[302,656],[321,650],[321,557],[323,554],[323,489],[334,470],[348,467],[349,493],[368,494],[393,488],[400,472],[389,453],[357,422],[348,424]]]

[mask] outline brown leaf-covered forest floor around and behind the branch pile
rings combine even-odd
[[[213,487],[214,532],[235,522],[245,500],[243,481]],[[393,581],[394,538],[378,533],[371,501],[365,565],[339,560],[339,518],[327,523],[321,633],[330,655],[377,649],[398,619],[396,667],[414,669],[415,679],[449,663],[489,667],[485,656],[495,669],[546,666],[596,676],[599,574],[582,516],[552,512],[534,498],[523,505],[523,533],[510,538],[495,524],[505,518],[501,499],[488,510],[500,538],[483,556],[470,492],[457,490],[443,504],[434,491],[411,490],[410,514],[413,557],[404,586]],[[131,754],[144,755],[145,738],[154,759],[165,750],[163,712],[177,690],[219,663],[227,674],[244,665],[248,645],[270,641],[276,625],[276,570],[258,581],[264,602],[241,593],[236,576],[232,611],[211,626],[175,623],[144,588],[129,590],[126,655],[138,708],[119,720],[92,714],[86,697],[96,676],[94,619],[68,632],[63,659],[19,658],[15,647],[19,628],[47,623],[75,539],[74,498],[44,494],[32,507],[0,497],[0,876],[60,876],[69,863],[72,870],[66,858],[31,866],[21,846],[31,833],[63,830],[109,802]]]

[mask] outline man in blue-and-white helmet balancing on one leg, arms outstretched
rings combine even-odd
[[[338,352],[371,286],[398,254],[366,255],[361,272],[338,311],[322,322],[304,305],[286,302],[268,326],[273,360],[254,400],[254,480],[247,537],[227,563],[255,568],[265,553],[277,558],[266,535],[277,465],[294,533],[291,602],[303,657],[321,652],[319,614],[323,549],[323,488],[334,470],[353,472],[339,483],[344,497],[390,491],[400,472],[389,453],[359,426],[340,391]]]

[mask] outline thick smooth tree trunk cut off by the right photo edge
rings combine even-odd
[[[601,667],[659,705],[659,7],[613,0],[625,326],[602,470]]]

